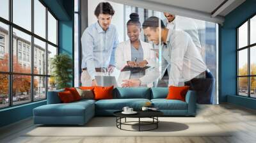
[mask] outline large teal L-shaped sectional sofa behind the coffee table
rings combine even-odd
[[[113,99],[80,100],[72,103],[61,103],[58,91],[49,91],[47,105],[33,109],[35,124],[86,124],[94,116],[113,116],[113,112],[128,106],[140,110],[146,102],[158,107],[164,116],[195,116],[196,94],[188,91],[186,102],[166,100],[168,87],[116,87]]]

